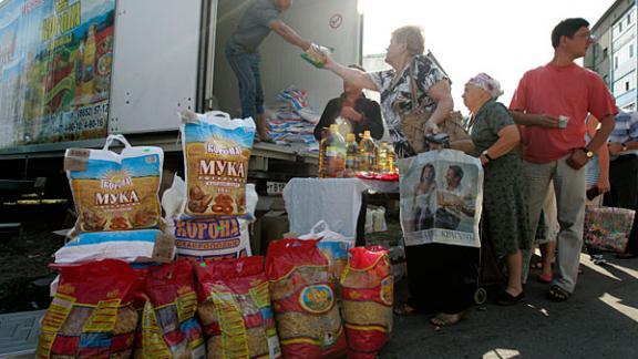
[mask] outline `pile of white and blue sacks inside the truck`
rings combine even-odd
[[[301,145],[318,152],[313,131],[320,114],[310,109],[306,91],[288,88],[277,95],[278,103],[268,114],[268,134],[282,145]]]

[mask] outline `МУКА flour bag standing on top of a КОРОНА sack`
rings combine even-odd
[[[186,164],[186,217],[243,215],[248,161],[255,140],[253,119],[230,120],[219,111],[182,112]]]

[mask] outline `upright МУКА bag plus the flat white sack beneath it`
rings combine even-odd
[[[124,144],[120,154],[109,150],[113,141]],[[66,150],[64,170],[78,222],[55,263],[171,261],[174,238],[161,230],[163,162],[162,148],[133,147],[123,135],[110,135],[102,150]]]

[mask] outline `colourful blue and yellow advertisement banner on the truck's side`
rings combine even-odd
[[[115,0],[0,4],[0,148],[106,135]]]

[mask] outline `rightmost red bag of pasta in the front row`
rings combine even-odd
[[[373,359],[392,331],[394,280],[383,247],[350,249],[341,277],[348,358]]]

